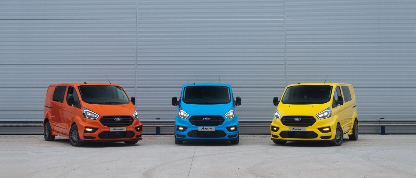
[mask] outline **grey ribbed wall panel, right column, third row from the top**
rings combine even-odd
[[[315,65],[397,65],[415,64],[416,43],[414,42],[302,42],[286,44],[287,64]],[[354,67],[355,68],[355,67]],[[388,72],[388,71],[383,71]]]

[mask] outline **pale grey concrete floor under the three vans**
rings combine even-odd
[[[0,135],[0,177],[416,178],[415,135],[359,135],[341,146],[276,145],[269,135],[241,135],[238,145],[143,138],[73,147],[59,136],[47,142],[42,135]]]

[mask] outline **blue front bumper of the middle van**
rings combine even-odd
[[[178,127],[186,128],[178,131]],[[198,127],[214,127],[215,131],[198,131]],[[227,128],[235,127],[233,131]],[[219,126],[195,126],[188,119],[182,119],[176,116],[175,120],[175,139],[177,140],[235,140],[238,138],[238,116],[231,119],[225,119]]]

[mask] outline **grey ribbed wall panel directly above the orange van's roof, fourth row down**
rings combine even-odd
[[[1,86],[7,88],[47,87],[53,83],[108,83],[106,76],[114,84],[135,87],[134,73],[134,65],[0,65]]]

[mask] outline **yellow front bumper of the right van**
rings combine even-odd
[[[322,128],[330,128],[330,131],[323,131]],[[290,128],[295,128],[290,130]],[[305,128],[303,131],[294,131],[297,128]],[[312,126],[285,126],[280,119],[273,118],[270,124],[270,135],[276,141],[331,141],[335,139],[337,121],[332,118],[316,119]]]

